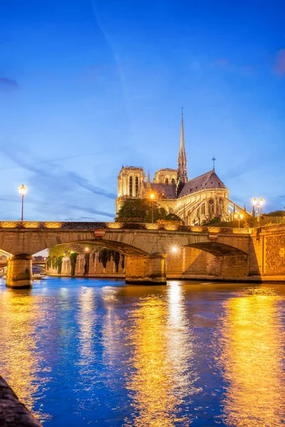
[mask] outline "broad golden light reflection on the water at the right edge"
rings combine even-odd
[[[259,288],[225,302],[221,364],[228,384],[223,401],[227,426],[284,426],[281,299]]]

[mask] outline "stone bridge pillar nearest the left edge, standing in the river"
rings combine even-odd
[[[33,273],[31,269],[31,255],[21,253],[13,255],[8,260],[6,286],[8,288],[32,288]]]

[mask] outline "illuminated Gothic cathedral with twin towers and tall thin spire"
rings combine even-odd
[[[177,166],[177,169],[158,170],[153,181],[150,181],[150,173],[146,180],[142,167],[122,167],[118,176],[117,213],[125,199],[145,199],[150,194],[157,206],[180,216],[185,225],[189,226],[201,225],[214,216],[229,221],[236,210],[244,211],[229,200],[229,189],[219,179],[214,167],[205,174],[188,179],[183,112]]]

